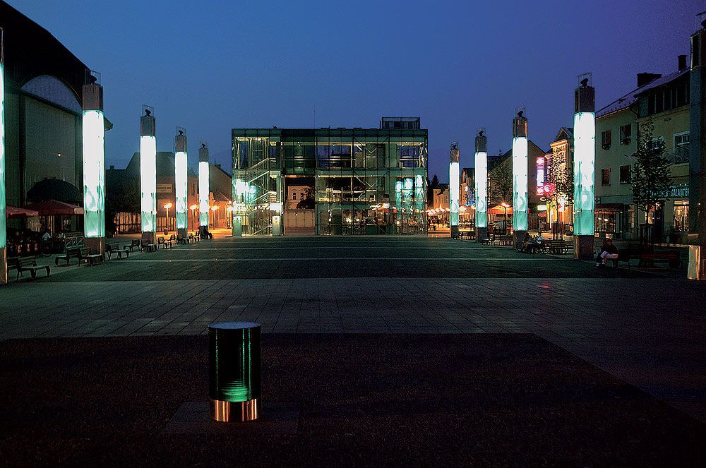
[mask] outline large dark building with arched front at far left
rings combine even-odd
[[[8,220],[8,232],[12,237],[18,229],[29,227],[82,236],[83,216],[55,215],[51,202],[68,203],[82,212],[83,85],[90,69],[49,31],[4,1],[0,1],[0,28],[6,203],[16,207],[34,203],[40,212],[39,220],[29,224],[27,219]],[[105,120],[104,128],[109,130],[112,124]]]

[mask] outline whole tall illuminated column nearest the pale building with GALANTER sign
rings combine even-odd
[[[579,76],[574,114],[574,257],[593,257],[596,167],[596,90],[590,74]]]

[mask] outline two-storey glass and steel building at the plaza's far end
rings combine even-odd
[[[428,132],[418,118],[380,127],[234,128],[234,235],[272,234],[285,186],[301,184],[316,234],[426,234]]]

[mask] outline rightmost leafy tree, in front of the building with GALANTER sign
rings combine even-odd
[[[657,210],[669,192],[672,162],[664,157],[664,140],[653,138],[654,124],[647,121],[638,131],[638,150],[633,163],[633,203],[648,213]]]

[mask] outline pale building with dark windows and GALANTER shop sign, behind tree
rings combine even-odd
[[[689,78],[686,56],[679,56],[678,71],[638,74],[638,88],[597,112],[598,236],[638,239],[647,226],[658,241],[689,242]],[[647,128],[671,162],[671,186],[656,209],[644,212],[633,202],[632,155]]]

